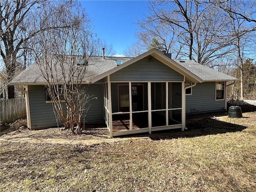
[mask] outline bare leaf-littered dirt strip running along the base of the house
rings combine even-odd
[[[242,113],[245,112],[256,112],[256,106],[246,105],[240,106],[242,108]],[[241,131],[244,129],[244,126],[236,126],[234,129],[234,122],[223,123],[217,119],[222,116],[227,116],[228,112],[212,112],[206,114],[194,114],[188,115],[186,117],[186,127],[188,130],[200,130],[200,134],[218,134],[229,131]],[[216,117],[216,118],[214,118]],[[250,117],[251,120],[256,120],[256,115]],[[239,119],[238,119],[239,121]],[[212,129],[212,128],[215,129]],[[160,131],[157,134],[152,134],[155,137],[161,137],[166,132],[176,132],[176,135],[193,135],[193,132],[180,132],[180,129],[169,130],[169,131]],[[197,134],[199,134],[197,132]],[[105,124],[88,124],[86,130],[82,134],[74,135],[68,129],[64,128],[48,128],[46,130],[29,130],[26,124],[26,118],[18,119],[10,124],[1,125],[1,138],[8,139],[14,136],[33,136],[36,138],[56,138],[56,139],[65,139],[65,140],[102,140],[109,138],[109,131],[106,128]],[[138,134],[135,136],[147,136],[148,134]],[[152,137],[151,135],[151,137]],[[127,137],[127,136],[124,136]]]

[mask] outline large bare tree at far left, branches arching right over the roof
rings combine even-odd
[[[46,28],[44,27],[43,23],[45,21],[40,20],[39,13],[44,13],[46,5],[57,2],[48,0],[1,0],[0,3],[0,55],[6,66],[7,82],[9,82],[14,77],[17,60],[21,59],[24,62],[24,68],[26,67],[28,50],[31,48],[30,39],[32,37],[52,29],[69,28],[70,23],[67,22],[66,26],[54,23],[49,24]],[[60,1],[58,4],[71,8],[74,5],[78,5],[78,2],[72,0]],[[52,12],[48,12],[48,16],[51,17],[56,12],[57,10],[52,10]],[[37,20],[40,24],[37,26],[32,25],[34,20]],[[14,86],[8,86],[8,98],[14,97]]]

